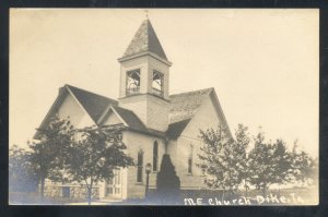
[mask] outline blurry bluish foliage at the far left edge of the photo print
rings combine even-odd
[[[37,189],[37,179],[30,162],[30,153],[13,145],[9,149],[9,191],[33,192]]]

